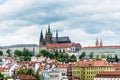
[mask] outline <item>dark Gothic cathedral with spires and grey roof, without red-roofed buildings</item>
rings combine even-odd
[[[54,44],[54,43],[71,43],[71,40],[69,37],[64,36],[64,37],[58,37],[58,31],[56,31],[56,36],[53,37],[50,25],[48,25],[48,30],[46,30],[45,38],[43,37],[43,32],[41,30],[40,33],[40,41],[39,41],[39,46],[45,46],[46,44]]]

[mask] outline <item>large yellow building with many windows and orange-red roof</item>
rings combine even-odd
[[[79,61],[77,65],[72,66],[72,76],[80,80],[94,80],[96,74],[101,71],[115,71],[115,67],[104,60]]]

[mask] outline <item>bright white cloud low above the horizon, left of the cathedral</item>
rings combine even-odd
[[[29,27],[23,27],[17,29],[14,33],[10,33],[6,36],[0,36],[0,43],[1,45],[12,45],[12,44],[22,44],[22,43],[28,43],[38,44],[39,40],[39,34],[36,34],[36,32],[39,32],[38,26],[29,26]]]

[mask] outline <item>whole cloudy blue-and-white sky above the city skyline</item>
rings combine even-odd
[[[120,45],[120,0],[0,0],[0,45],[38,44],[48,24],[82,46]]]

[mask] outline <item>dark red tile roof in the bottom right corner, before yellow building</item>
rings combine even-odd
[[[103,71],[97,74],[95,78],[120,78],[120,71]]]

